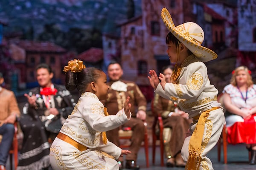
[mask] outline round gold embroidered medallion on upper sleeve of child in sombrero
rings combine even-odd
[[[189,81],[186,83],[186,85],[188,86],[189,90],[198,91],[199,89],[201,89],[203,82],[203,76],[199,73],[194,73]]]

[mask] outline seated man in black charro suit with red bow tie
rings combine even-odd
[[[28,105],[20,119],[24,133],[17,170],[47,170],[49,140],[57,136],[67,116],[73,110],[73,99],[63,85],[52,83],[53,72],[49,65],[39,64],[36,78],[39,87],[24,94]]]

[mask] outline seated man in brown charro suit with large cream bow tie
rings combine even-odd
[[[138,170],[140,166],[137,165],[137,153],[140,150],[141,142],[144,139],[145,126],[144,120],[146,119],[146,99],[140,91],[140,88],[135,82],[130,82],[121,79],[123,75],[122,66],[118,62],[111,62],[108,65],[108,77],[110,82],[107,84],[110,86],[108,99],[102,101],[106,108],[108,108],[109,114],[116,114],[123,108],[125,99],[130,96],[131,103],[131,119],[126,122],[122,127],[129,127],[133,131],[131,137],[131,146],[129,150],[130,154],[126,155],[126,169]],[[107,132],[108,140],[113,142],[117,146],[119,144],[118,136],[119,128],[110,130]],[[122,157],[119,157],[119,170],[123,169]]]

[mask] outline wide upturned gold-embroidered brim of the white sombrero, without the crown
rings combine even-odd
[[[171,31],[172,34],[186,46],[186,48],[188,48],[193,54],[195,54],[195,57],[197,57],[200,61],[207,62],[207,61],[216,59],[218,57],[218,55],[214,51],[202,46],[201,44],[195,41],[192,41],[191,37],[187,39],[183,37],[175,29],[175,25],[172,21],[172,17],[166,8],[162,9],[161,17],[163,19],[164,24],[169,29],[169,31]]]

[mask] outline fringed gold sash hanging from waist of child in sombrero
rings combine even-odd
[[[218,108],[220,107],[213,107],[207,111],[204,111],[201,115],[193,117],[193,119],[198,119],[198,124],[195,126],[195,130],[189,140],[189,158],[186,163],[186,170],[199,170],[202,159],[200,149],[204,136],[205,121],[209,116],[209,112]]]

